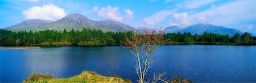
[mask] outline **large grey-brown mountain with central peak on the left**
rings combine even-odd
[[[127,24],[117,22],[112,19],[105,20],[91,20],[81,14],[69,14],[55,22],[50,20],[31,19],[25,20],[22,23],[15,24],[14,26],[6,27],[5,30],[10,31],[42,31],[42,30],[82,30],[82,28],[95,28],[104,31],[131,31],[135,30]]]

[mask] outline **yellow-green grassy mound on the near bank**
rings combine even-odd
[[[131,82],[123,80],[120,76],[101,76],[95,72],[82,71],[81,74],[69,78],[55,78],[51,74],[34,73],[23,82]]]

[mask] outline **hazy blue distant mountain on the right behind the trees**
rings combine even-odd
[[[191,32],[192,35],[195,35],[195,34],[201,35],[201,34],[204,34],[204,32],[212,32],[212,34],[221,34],[221,35],[228,34],[229,36],[233,36],[236,33],[243,34],[243,32],[233,28],[226,28],[223,26],[214,26],[213,24],[207,24],[207,23],[194,24],[192,26],[180,28],[180,30],[179,30],[179,27],[172,27],[170,29],[166,28],[166,31],[169,31],[169,32],[180,31],[181,33]]]

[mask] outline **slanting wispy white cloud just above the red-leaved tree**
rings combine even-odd
[[[156,24],[159,24],[159,23],[163,22],[163,20],[166,20],[168,16],[174,14],[175,11],[176,10],[162,10],[162,11],[159,11],[158,13],[155,13],[155,14],[151,15],[148,18],[142,19],[139,22],[139,24],[141,24],[141,26],[145,26],[145,27],[155,27]]]

